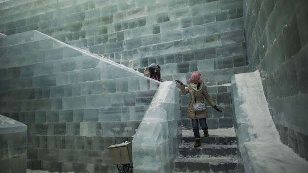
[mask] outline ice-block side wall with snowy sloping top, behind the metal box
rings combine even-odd
[[[0,74],[0,114],[28,126],[28,169],[50,172],[118,172],[108,146],[132,140],[158,86],[37,31],[0,38]]]

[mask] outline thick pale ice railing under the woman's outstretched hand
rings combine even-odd
[[[134,173],[170,173],[182,140],[179,88],[162,82],[134,136]]]

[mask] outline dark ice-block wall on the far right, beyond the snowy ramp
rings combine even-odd
[[[308,160],[308,1],[243,2],[249,69],[260,71],[282,142]]]

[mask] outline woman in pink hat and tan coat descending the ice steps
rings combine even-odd
[[[191,119],[193,132],[196,139],[194,147],[199,147],[201,146],[201,142],[198,123],[200,123],[201,129],[204,132],[204,136],[209,136],[208,126],[206,124],[206,118],[208,117],[208,109],[206,107],[206,102],[204,101],[204,98],[209,102],[211,107],[213,107],[219,112],[222,112],[222,110],[216,106],[216,103],[210,97],[207,91],[207,87],[200,78],[200,73],[195,72],[191,74],[191,78],[188,80],[190,84],[187,88],[185,88],[185,85],[179,80],[176,81],[180,83],[181,91],[183,94],[190,94],[190,102],[188,105],[187,115]],[[194,103],[205,103],[206,109],[202,112],[196,112],[193,108]]]

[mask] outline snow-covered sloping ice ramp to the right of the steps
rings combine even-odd
[[[240,173],[305,173],[308,162],[284,145],[270,115],[259,71],[231,79],[238,171]]]

